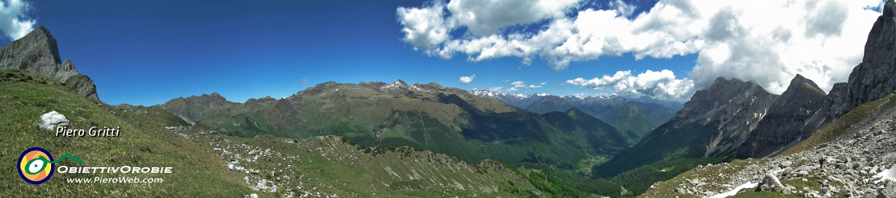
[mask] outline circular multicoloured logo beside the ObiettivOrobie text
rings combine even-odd
[[[53,176],[53,169],[56,169],[56,165],[50,161],[53,161],[53,156],[47,150],[40,147],[25,150],[19,157],[19,176],[32,185],[43,184]]]

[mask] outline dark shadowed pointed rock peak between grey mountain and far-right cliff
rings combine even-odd
[[[740,158],[762,158],[783,151],[790,143],[805,140],[812,132],[803,131],[808,119],[823,105],[824,91],[815,82],[797,74],[788,89],[771,103],[750,138],[741,146]]]

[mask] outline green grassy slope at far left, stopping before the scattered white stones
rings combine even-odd
[[[4,80],[31,78],[32,82],[0,82],[0,161],[4,168],[0,173],[0,196],[192,196],[234,197],[251,194],[237,178],[216,171],[203,151],[194,151],[193,142],[159,133],[160,125],[153,123],[128,123],[104,108],[73,93],[52,81],[21,71],[0,73]],[[39,83],[33,83],[39,82]],[[49,83],[45,84],[45,83]],[[116,138],[56,137],[35,125],[44,112],[56,110],[71,121],[70,128],[90,128],[90,125],[121,126]],[[42,147],[59,158],[64,153],[80,157],[86,164],[75,165],[65,160],[58,166],[90,167],[173,167],[174,174],[54,174],[41,185],[30,185],[18,176],[15,164],[19,155],[30,147]],[[92,176],[159,177],[165,180],[156,184],[68,184],[66,178]],[[195,181],[195,182],[177,182]],[[202,181],[202,182],[199,182]],[[215,189],[210,191],[208,189]]]

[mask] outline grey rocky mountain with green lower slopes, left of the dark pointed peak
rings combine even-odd
[[[736,153],[778,98],[754,82],[719,77],[709,89],[697,90],[685,108],[642,142],[601,165],[599,176],[615,176],[659,160]]]

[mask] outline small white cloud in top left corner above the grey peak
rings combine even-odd
[[[11,40],[21,39],[34,30],[34,21],[28,17],[31,5],[22,0],[0,1],[0,30]]]

